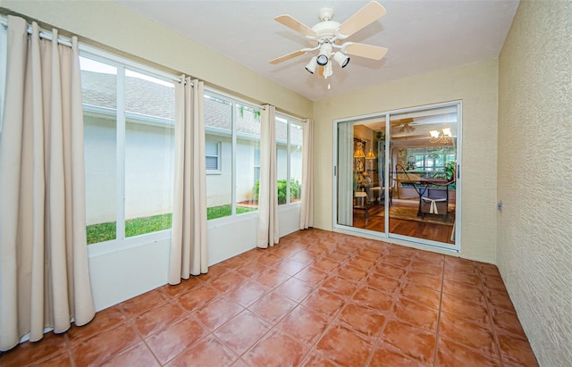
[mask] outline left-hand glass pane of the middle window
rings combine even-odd
[[[206,146],[220,145],[218,171],[206,175],[206,218],[232,214],[232,104],[205,95]],[[208,161],[207,161],[208,162]]]

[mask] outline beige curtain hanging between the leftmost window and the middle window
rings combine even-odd
[[[169,283],[208,271],[204,83],[175,83],[175,188]]]

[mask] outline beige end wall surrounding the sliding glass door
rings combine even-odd
[[[461,256],[495,262],[497,60],[472,63],[334,96],[314,104],[315,227],[332,230],[335,119],[463,101]]]

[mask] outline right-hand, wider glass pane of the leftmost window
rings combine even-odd
[[[174,87],[125,72],[125,237],[170,229]]]

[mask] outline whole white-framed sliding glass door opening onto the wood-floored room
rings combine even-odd
[[[334,227],[458,249],[460,107],[335,121]]]

